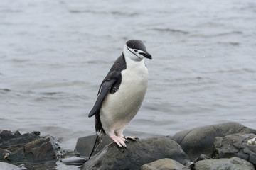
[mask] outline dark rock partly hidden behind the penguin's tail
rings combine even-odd
[[[96,135],[78,138],[78,142],[75,145],[75,152],[78,152],[80,156],[89,157],[90,153],[92,152],[93,145],[95,144],[95,140]],[[101,149],[103,149],[106,145],[109,145],[111,142],[112,140],[110,140],[110,137],[105,135],[96,151],[93,152],[92,156],[97,154],[97,152],[100,152]]]

